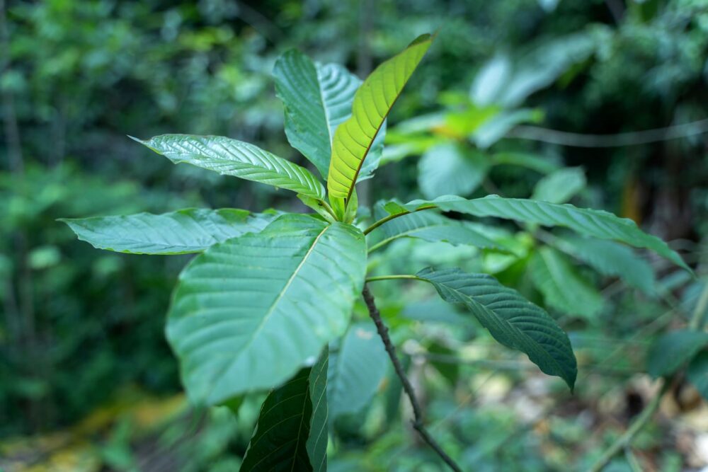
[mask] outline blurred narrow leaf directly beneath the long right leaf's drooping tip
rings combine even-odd
[[[646,294],[652,294],[655,290],[656,279],[651,264],[623,244],[581,236],[564,236],[556,238],[554,246],[593,267],[600,274],[620,277],[628,285]]]

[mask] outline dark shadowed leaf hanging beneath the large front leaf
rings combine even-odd
[[[242,472],[327,470],[327,355],[268,393]]]

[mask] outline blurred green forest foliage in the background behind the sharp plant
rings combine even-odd
[[[549,144],[546,131],[607,134],[704,120],[704,0],[6,0],[4,7],[0,468],[7,471],[240,464],[257,399],[234,418],[225,409],[193,411],[175,397],[164,313],[188,258],[97,253],[55,219],[279,207],[275,190],[171,166],[125,135],[221,134],[303,163],[287,151],[270,77],[290,47],[363,76],[419,33],[439,29],[426,67],[389,117],[378,185],[360,190],[360,200],[455,191],[573,199],[677,240],[705,275],[704,134],[588,149]],[[518,125],[533,139],[509,137]],[[419,168],[434,168],[427,178],[438,180],[424,181]],[[566,175],[554,183],[557,172]],[[651,394],[643,375],[651,342],[683,328],[704,290],[704,279],[672,273],[659,260],[656,296],[627,288],[564,246],[562,234],[537,230],[489,234],[508,254],[404,239],[370,260],[372,270],[404,273],[435,254],[440,265],[493,273],[545,302],[571,333],[580,364],[575,396],[494,347],[486,331],[461,328],[459,313],[431,301],[428,287],[376,287],[433,432],[474,470],[588,466]],[[573,280],[574,290],[539,283],[533,267],[549,253],[562,261],[556,280]],[[583,313],[568,313],[561,295],[576,306],[585,299]],[[367,321],[362,306],[356,317]],[[364,410],[334,422],[332,471],[441,470],[401,421],[409,413],[400,398],[389,372]],[[634,447],[639,464],[679,471],[708,462],[697,445],[708,441],[703,433],[699,442],[707,408],[700,402],[695,390],[677,388],[662,411],[680,416],[683,427],[675,439],[647,428]],[[632,470],[627,457],[605,470]]]

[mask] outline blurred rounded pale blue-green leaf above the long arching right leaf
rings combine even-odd
[[[479,152],[465,152],[455,143],[428,149],[418,161],[418,186],[427,198],[454,193],[469,195],[484,180],[489,160]]]

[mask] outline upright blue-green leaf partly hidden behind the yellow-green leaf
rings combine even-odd
[[[285,134],[327,178],[332,138],[337,127],[352,114],[352,101],[361,81],[338,64],[314,64],[297,50],[282,54],[273,69],[275,91],[285,107]],[[383,132],[369,153],[361,178],[370,175],[381,156]]]

